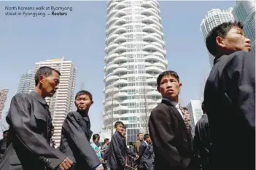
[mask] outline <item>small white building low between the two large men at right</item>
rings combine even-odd
[[[192,134],[194,134],[195,124],[203,115],[202,101],[201,100],[190,100],[186,106],[188,112],[190,113],[190,126],[192,127]]]

